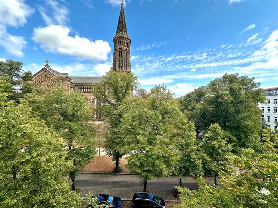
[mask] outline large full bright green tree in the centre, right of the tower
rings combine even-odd
[[[146,99],[137,97],[126,105],[127,112],[117,129],[124,138],[120,147],[129,155],[127,167],[144,180],[146,191],[147,181],[175,172],[181,141],[187,152],[183,166],[191,164],[196,150],[194,126],[187,123],[164,85],[152,88]]]

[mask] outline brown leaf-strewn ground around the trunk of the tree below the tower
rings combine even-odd
[[[125,158],[120,159],[120,168],[123,172],[127,171],[126,165],[127,161]],[[82,169],[81,171],[105,171],[105,172],[113,172],[115,168],[115,163],[112,161],[112,157],[103,155],[96,155],[93,159],[89,161],[89,163]]]

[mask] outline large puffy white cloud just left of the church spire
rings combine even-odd
[[[87,38],[70,36],[70,29],[61,25],[50,25],[34,29],[32,39],[47,52],[75,56],[94,62],[108,59],[111,48],[103,40],[90,41]]]

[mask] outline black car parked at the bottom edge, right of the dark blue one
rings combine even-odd
[[[156,207],[156,208],[166,208],[165,201],[152,193],[148,192],[136,192],[132,198],[133,208],[143,208],[143,207]]]

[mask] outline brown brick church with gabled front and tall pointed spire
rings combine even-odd
[[[122,2],[121,11],[118,21],[118,26],[116,30],[116,35],[113,38],[114,42],[114,53],[113,53],[113,66],[111,70],[116,72],[131,72],[130,63],[130,45],[131,39],[127,34],[127,27],[124,15],[124,5]],[[76,88],[87,98],[91,106],[95,108],[101,105],[101,102],[94,98],[91,93],[92,84],[98,83],[103,79],[103,77],[80,77],[80,76],[70,76],[68,73],[61,73],[49,65],[49,60],[46,60],[46,65],[40,71],[33,75],[32,81],[42,87],[51,87],[55,83],[62,83],[67,86],[69,91],[73,91]],[[100,114],[95,114],[94,121],[95,124],[103,123],[103,118]]]

